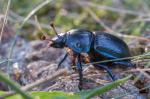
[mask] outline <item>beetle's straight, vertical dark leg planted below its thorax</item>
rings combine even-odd
[[[77,56],[77,69],[79,73],[79,90],[82,90],[82,80],[83,80],[83,74],[82,74],[82,65],[81,65],[81,60],[80,60],[80,54]]]

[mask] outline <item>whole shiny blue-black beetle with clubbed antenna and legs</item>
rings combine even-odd
[[[66,33],[58,34],[51,24],[56,36],[50,40],[49,46],[54,48],[67,47],[73,53],[73,62],[77,66],[79,73],[79,85],[78,88],[82,89],[82,64],[81,54],[86,53],[89,56],[90,63],[99,62],[103,60],[113,60],[118,58],[130,57],[130,51],[127,44],[120,38],[106,33],[106,32],[91,32],[86,29],[72,29]],[[69,52],[65,54],[63,59],[59,62],[58,68],[67,58]],[[97,69],[104,69],[110,75],[113,81],[116,80],[111,68],[115,65],[123,67],[133,67],[130,59],[112,61],[105,63],[93,64]]]

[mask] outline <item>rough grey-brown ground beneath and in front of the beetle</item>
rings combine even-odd
[[[16,82],[20,83],[22,86],[28,85],[35,82],[40,78],[46,78],[57,72],[57,64],[62,59],[65,54],[65,49],[55,49],[47,47],[46,41],[33,40],[27,41],[24,38],[18,37],[15,50],[13,51],[12,71],[10,72],[11,78]],[[8,55],[9,49],[7,49],[11,44],[8,41],[2,44],[0,49],[1,57]],[[7,49],[7,50],[5,50]],[[19,54],[17,54],[19,53]],[[71,61],[68,58],[62,65],[61,68],[67,68],[68,74],[62,75],[53,81],[48,81],[36,88],[34,91],[66,91],[66,92],[77,92],[78,89],[78,73],[73,71],[70,67]],[[142,63],[138,64],[142,68]],[[1,68],[3,71],[7,71],[7,64],[2,64]],[[132,72],[131,69],[134,68],[114,68],[113,71],[117,78],[123,78],[129,74],[134,74],[136,77],[139,73]],[[97,70],[92,65],[84,66],[84,89],[96,88],[97,86],[103,86],[111,82],[109,75],[104,70]],[[136,83],[133,79],[130,79],[123,86],[128,89],[124,90],[121,87],[113,89],[101,96],[99,98],[109,99],[112,97],[119,97],[125,93],[122,99],[147,99],[149,96],[149,90],[139,91],[147,84],[149,85],[150,80],[146,77],[140,78]],[[140,86],[139,86],[140,84]],[[2,86],[4,87],[4,86]],[[98,97],[97,97],[98,98]]]

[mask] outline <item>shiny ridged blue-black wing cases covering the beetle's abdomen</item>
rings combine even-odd
[[[130,57],[127,44],[120,38],[105,32],[95,32],[94,49],[110,59]]]

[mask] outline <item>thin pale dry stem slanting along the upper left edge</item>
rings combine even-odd
[[[11,3],[11,0],[8,0],[6,13],[5,13],[4,21],[3,21],[3,24],[2,24],[1,33],[0,33],[0,43],[2,41],[2,36],[3,36],[3,31],[4,31],[5,24],[7,23],[7,16],[8,16],[9,8],[10,8],[10,3]]]

